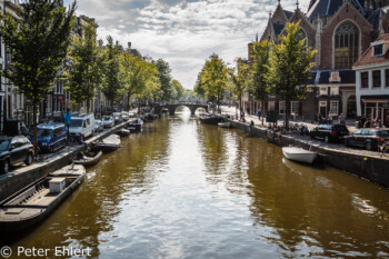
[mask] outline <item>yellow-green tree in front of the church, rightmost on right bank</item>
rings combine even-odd
[[[289,127],[290,101],[306,98],[307,86],[301,83],[309,78],[309,71],[316,50],[306,46],[300,30],[300,21],[289,22],[286,36],[279,38],[280,42],[272,44],[270,52],[270,69],[267,77],[268,83],[277,97],[286,101],[285,126]]]

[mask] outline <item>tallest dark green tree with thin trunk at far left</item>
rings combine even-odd
[[[8,12],[0,14],[0,36],[11,53],[1,74],[32,101],[36,150],[38,104],[52,90],[67,56],[74,11],[76,1],[67,10],[60,0],[26,0],[22,8],[17,6],[18,19]]]

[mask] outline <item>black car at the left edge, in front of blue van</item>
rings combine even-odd
[[[33,162],[33,146],[24,136],[0,137],[0,172],[9,172],[10,166]]]

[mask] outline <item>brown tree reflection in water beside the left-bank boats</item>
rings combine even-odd
[[[121,212],[120,203],[129,196],[152,191],[158,169],[164,166],[170,126],[167,120],[156,123],[158,133],[131,135],[122,139],[123,148],[103,156],[97,167],[88,170],[80,189],[19,246],[90,247],[92,257],[98,257],[98,246],[104,242],[99,236],[113,229],[116,217]]]

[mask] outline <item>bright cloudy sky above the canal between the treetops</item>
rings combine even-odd
[[[69,6],[72,0],[64,0]],[[307,11],[308,0],[300,0]],[[169,62],[172,77],[192,89],[213,52],[235,66],[247,44],[262,34],[277,0],[78,0],[77,14],[94,18],[98,38],[131,42],[142,56]],[[295,11],[296,0],[281,0]]]

